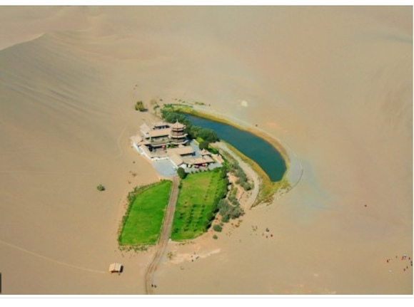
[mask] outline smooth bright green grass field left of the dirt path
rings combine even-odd
[[[126,221],[118,238],[120,245],[156,244],[161,232],[164,213],[171,191],[171,181],[165,180],[143,187],[130,204]]]

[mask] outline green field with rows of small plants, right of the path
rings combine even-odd
[[[203,234],[213,219],[216,202],[227,191],[220,172],[200,172],[181,179],[171,239],[194,239]]]

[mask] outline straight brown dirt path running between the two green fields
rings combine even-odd
[[[170,239],[171,235],[171,227],[173,226],[173,217],[174,212],[176,211],[176,202],[178,199],[178,184],[180,183],[180,179],[178,176],[173,177],[173,186],[171,187],[170,199],[168,201],[168,207],[166,210],[166,215],[163,220],[163,226],[161,229],[161,236],[158,241],[158,245],[156,246],[156,253],[153,256],[153,260],[151,264],[148,265],[145,274],[145,287],[146,287],[146,294],[153,294],[154,286],[156,287],[156,283],[153,281],[153,275],[158,268],[158,264],[165,254],[166,247],[168,244],[168,240]]]

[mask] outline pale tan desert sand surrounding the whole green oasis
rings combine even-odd
[[[411,6],[0,6],[0,19],[2,294],[144,294],[153,249],[116,242],[128,191],[158,180],[129,144],[152,119],[133,105],[176,98],[258,124],[303,176],[218,239],[168,244],[156,294],[413,294]]]

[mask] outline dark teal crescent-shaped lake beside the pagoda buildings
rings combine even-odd
[[[266,140],[250,132],[239,130],[231,125],[218,123],[193,115],[186,115],[193,125],[210,128],[217,132],[221,140],[233,145],[251,160],[255,161],[273,181],[282,179],[286,172],[286,163],[281,154]]]

